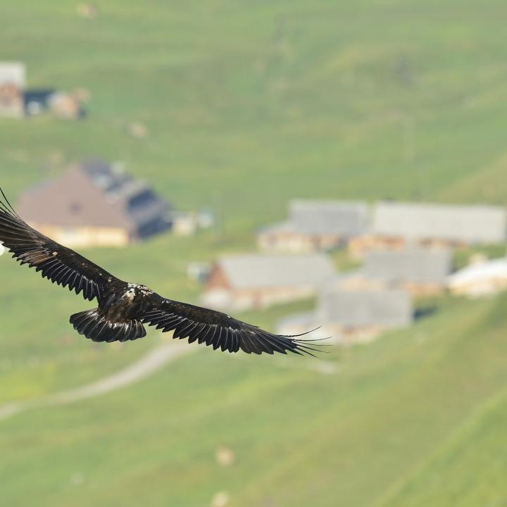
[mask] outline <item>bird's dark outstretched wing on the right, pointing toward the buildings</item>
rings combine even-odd
[[[188,303],[163,299],[152,294],[149,311],[142,319],[156,329],[173,331],[174,338],[187,338],[189,343],[199,342],[212,345],[213,349],[261,354],[263,352],[307,353],[318,351],[314,342],[318,340],[299,339],[302,335],[283,336],[273,334],[251,324],[242,322],[219,311],[201,308]],[[304,333],[306,334],[306,333]]]

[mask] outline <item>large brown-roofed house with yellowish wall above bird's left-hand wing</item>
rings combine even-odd
[[[120,168],[90,159],[25,192],[18,213],[66,246],[125,246],[167,230],[170,205]]]

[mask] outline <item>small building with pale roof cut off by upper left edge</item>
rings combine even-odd
[[[0,118],[21,118],[25,114],[25,65],[0,62]]]

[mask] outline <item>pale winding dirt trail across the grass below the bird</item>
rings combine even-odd
[[[30,399],[26,401],[15,401],[7,405],[0,406],[0,421],[6,420],[20,412],[30,410],[31,408],[42,408],[56,405],[67,405],[94,396],[100,396],[117,389],[139,382],[157,370],[160,370],[165,364],[174,361],[187,353],[196,351],[196,347],[189,346],[187,342],[173,342],[163,344],[146,353],[135,363],[127,366],[113,375],[104,377],[98,382],[86,384],[75,389],[68,389],[55,394],[49,394],[38,399]]]

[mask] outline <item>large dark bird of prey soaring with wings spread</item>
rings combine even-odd
[[[148,287],[123,282],[79,253],[54,242],[30,227],[14,211],[0,189],[0,242],[21,264],[40,271],[42,277],[68,287],[98,308],[70,316],[74,329],[94,342],[127,342],[146,336],[144,324],[174,338],[188,338],[213,349],[246,353],[309,354],[321,351],[320,340],[284,336],[208,308],[180,303],[156,294]]]

